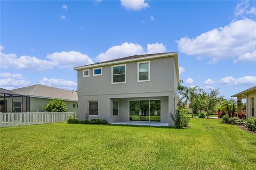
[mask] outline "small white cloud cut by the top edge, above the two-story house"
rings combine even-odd
[[[139,11],[149,7],[145,0],[121,0],[121,5],[126,8],[126,10]]]

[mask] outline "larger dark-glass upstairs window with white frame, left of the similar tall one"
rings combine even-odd
[[[126,64],[114,65],[111,69],[112,84],[126,83]]]

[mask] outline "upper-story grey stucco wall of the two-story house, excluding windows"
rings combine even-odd
[[[174,58],[150,60],[150,81],[137,82],[137,62],[126,63],[126,83],[111,84],[111,65],[102,67],[102,75],[83,77],[78,73],[78,96],[137,94],[145,92],[174,91]],[[177,82],[177,81],[176,81]]]

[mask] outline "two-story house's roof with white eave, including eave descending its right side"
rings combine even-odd
[[[170,57],[170,56],[174,57],[175,70],[176,70],[176,74],[177,74],[177,80],[179,82],[178,52],[133,55],[133,56],[117,58],[117,59],[109,60],[109,61],[105,61],[105,62],[98,62],[98,63],[94,63],[94,64],[75,67],[74,70],[90,69],[90,68],[93,68],[93,67],[95,68],[98,66],[100,67],[100,66],[106,66],[106,65],[112,65],[112,64],[122,64],[122,63]]]

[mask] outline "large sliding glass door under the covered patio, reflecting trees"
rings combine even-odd
[[[131,100],[130,121],[161,121],[161,100]]]

